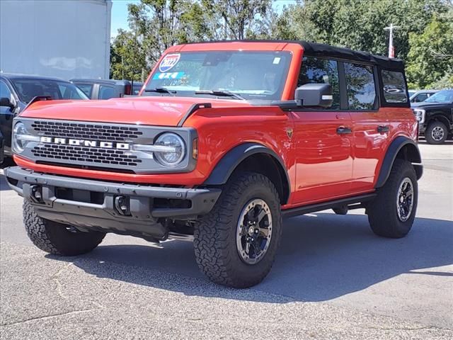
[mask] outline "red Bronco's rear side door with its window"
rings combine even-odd
[[[343,68],[354,138],[351,192],[359,193],[373,188],[389,140],[389,120],[379,109],[377,68],[353,62],[343,62]]]

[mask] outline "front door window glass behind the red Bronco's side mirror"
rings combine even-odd
[[[338,62],[336,60],[304,57],[297,86],[318,83],[331,84],[333,103],[331,108],[340,108],[340,86],[338,83]]]

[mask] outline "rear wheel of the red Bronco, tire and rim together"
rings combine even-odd
[[[374,234],[398,239],[411,230],[418,202],[418,183],[410,162],[395,159],[389,179],[367,208]]]

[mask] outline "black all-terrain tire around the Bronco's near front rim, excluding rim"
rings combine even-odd
[[[236,245],[239,216],[253,199],[267,203],[272,215],[272,237],[258,263],[241,259]],[[280,199],[273,183],[262,174],[235,174],[224,186],[212,211],[195,227],[195,257],[201,271],[214,283],[233,288],[256,285],[268,275],[282,235]]]

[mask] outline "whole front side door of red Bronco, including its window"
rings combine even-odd
[[[352,179],[352,121],[340,110],[339,62],[304,57],[297,86],[328,83],[333,88],[333,105],[328,110],[303,109],[292,112],[296,149],[294,205],[344,196]]]

